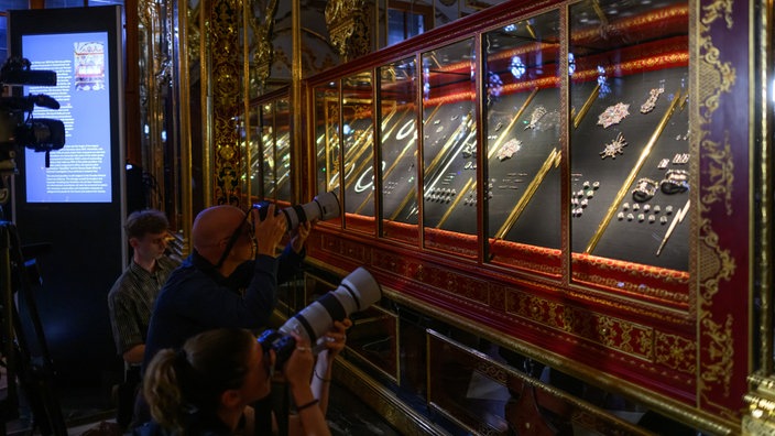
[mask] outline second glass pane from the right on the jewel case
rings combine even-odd
[[[488,32],[482,45],[490,259],[509,263],[504,241],[560,247],[559,12]]]

